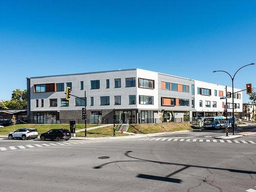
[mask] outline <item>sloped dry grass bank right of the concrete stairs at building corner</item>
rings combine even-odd
[[[150,134],[162,132],[174,132],[183,130],[193,130],[195,127],[188,122],[172,123],[148,123],[148,124],[131,124],[127,132],[135,134]]]

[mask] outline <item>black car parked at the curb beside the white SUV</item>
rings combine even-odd
[[[42,141],[46,140],[46,139],[50,139],[50,140],[56,140],[56,141],[60,141],[60,140],[69,140],[71,138],[71,132],[69,130],[66,129],[53,129],[50,130],[46,133],[42,133],[40,135],[40,139]]]

